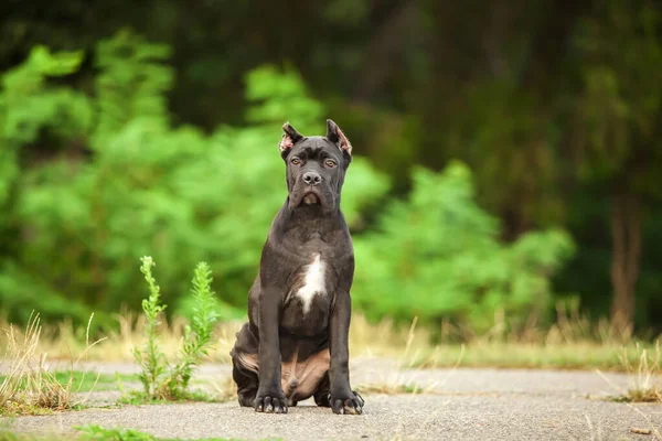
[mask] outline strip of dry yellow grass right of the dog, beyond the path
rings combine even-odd
[[[417,329],[415,335],[388,321],[371,324],[364,318],[352,320],[350,347],[352,355],[397,359],[404,368],[498,367],[605,369],[626,372],[624,356],[632,365],[638,344],[631,329],[616,329],[608,321],[592,323],[577,308],[557,308],[556,323],[540,326],[535,318],[523,324],[508,323],[499,311],[493,326],[477,334],[472,330],[441,324],[440,343],[430,345],[431,330]],[[463,343],[460,343],[463,342]],[[639,343],[652,349],[651,344]]]

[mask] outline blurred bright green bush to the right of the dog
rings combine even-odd
[[[407,201],[393,202],[377,232],[355,239],[356,304],[370,316],[440,322],[450,318],[485,331],[509,319],[544,314],[549,277],[573,251],[558,230],[499,241],[499,223],[474,201],[461,163],[435,174],[415,169]]]

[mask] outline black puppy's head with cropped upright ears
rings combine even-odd
[[[344,175],[352,161],[352,144],[332,120],[325,137],[305,137],[289,122],[282,126],[280,155],[287,168],[289,207],[339,208]]]

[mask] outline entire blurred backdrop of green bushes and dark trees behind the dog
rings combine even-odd
[[[662,330],[662,9],[644,0],[0,6],[0,308],[113,324],[151,255],[244,313],[280,125],[333,118],[371,319]]]

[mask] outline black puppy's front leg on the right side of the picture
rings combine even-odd
[[[330,404],[333,413],[362,413],[363,398],[350,387],[349,333],[352,302],[348,292],[339,292],[329,321],[331,364]]]

